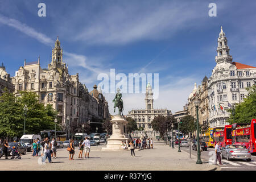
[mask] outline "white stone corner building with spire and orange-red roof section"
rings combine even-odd
[[[233,57],[229,51],[228,40],[221,27],[215,57],[216,66],[208,80],[210,127],[228,125],[225,122],[229,118],[226,110],[230,105],[242,102],[248,94],[246,87],[255,84],[256,67],[232,62]]]

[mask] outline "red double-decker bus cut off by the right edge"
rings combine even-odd
[[[232,143],[241,144],[251,152],[256,152],[256,119],[251,123],[235,123],[232,125]]]

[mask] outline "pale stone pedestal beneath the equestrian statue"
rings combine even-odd
[[[102,147],[103,151],[119,151],[123,150],[121,147],[122,142],[128,142],[127,138],[127,121],[121,115],[114,115],[110,121],[112,123],[112,135],[108,138],[106,147]]]

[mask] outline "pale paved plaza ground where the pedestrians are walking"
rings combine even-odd
[[[68,159],[66,148],[57,150],[57,158],[53,163],[39,164],[39,157],[32,157],[32,152],[22,155],[20,160],[0,160],[0,170],[104,170],[104,171],[144,171],[144,170],[212,170],[209,164],[196,164],[196,159],[189,159],[187,152],[177,152],[164,142],[155,142],[152,150],[135,150],[135,157],[130,151],[101,151],[100,146],[92,146],[90,158],[78,158],[79,149],[76,147],[74,159]],[[10,157],[9,157],[10,158]]]

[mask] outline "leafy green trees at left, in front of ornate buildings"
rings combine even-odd
[[[38,95],[32,92],[20,92],[15,97],[5,89],[0,97],[0,137],[21,137],[24,127],[24,105],[27,105],[25,133],[40,133],[41,130],[55,129],[54,119],[57,112],[52,105],[44,106],[38,101]],[[59,129],[59,126],[57,126]]]

